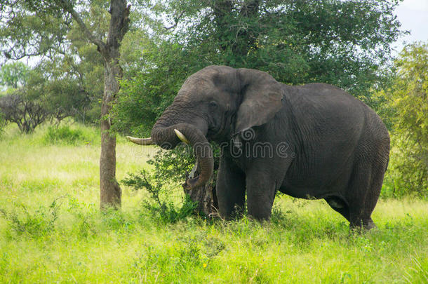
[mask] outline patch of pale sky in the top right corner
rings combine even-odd
[[[396,8],[401,29],[410,34],[401,36],[392,46],[396,52],[403,49],[403,42],[424,41],[428,43],[428,0],[404,0]]]

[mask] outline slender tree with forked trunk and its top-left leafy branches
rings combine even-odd
[[[128,31],[129,12],[126,0],[111,0],[109,6],[109,32],[107,39],[91,31],[82,20],[80,10],[86,1],[22,1],[7,0],[0,6],[1,13],[9,15],[0,23],[0,44],[6,58],[23,58],[28,55],[50,55],[51,50],[63,52],[67,41],[65,34],[74,20],[88,41],[97,46],[104,65],[104,95],[101,108],[100,155],[100,207],[119,207],[121,188],[116,182],[116,137],[111,133],[109,117],[112,104],[119,91],[123,74],[119,65],[119,47]]]

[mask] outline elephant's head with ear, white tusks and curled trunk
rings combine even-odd
[[[254,69],[209,66],[183,83],[172,104],[152,128],[150,138],[128,140],[173,149],[180,141],[194,148],[200,174],[188,180],[199,187],[213,174],[208,140],[225,142],[253,126],[267,123],[282,107],[283,88],[272,76]]]

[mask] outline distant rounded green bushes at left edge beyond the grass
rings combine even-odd
[[[60,61],[60,65],[64,64]],[[62,119],[74,116],[84,123],[88,120],[88,111],[94,107],[98,109],[98,100],[94,104],[97,96],[87,93],[77,78],[74,72],[67,72],[64,66],[50,61],[42,61],[33,69],[27,69],[25,85],[10,89],[0,97],[3,119],[17,123],[24,133],[32,132],[47,119],[60,123]]]

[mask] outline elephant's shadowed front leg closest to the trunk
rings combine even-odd
[[[239,217],[245,202],[245,174],[227,158],[220,158],[215,191],[220,216],[225,219]]]

